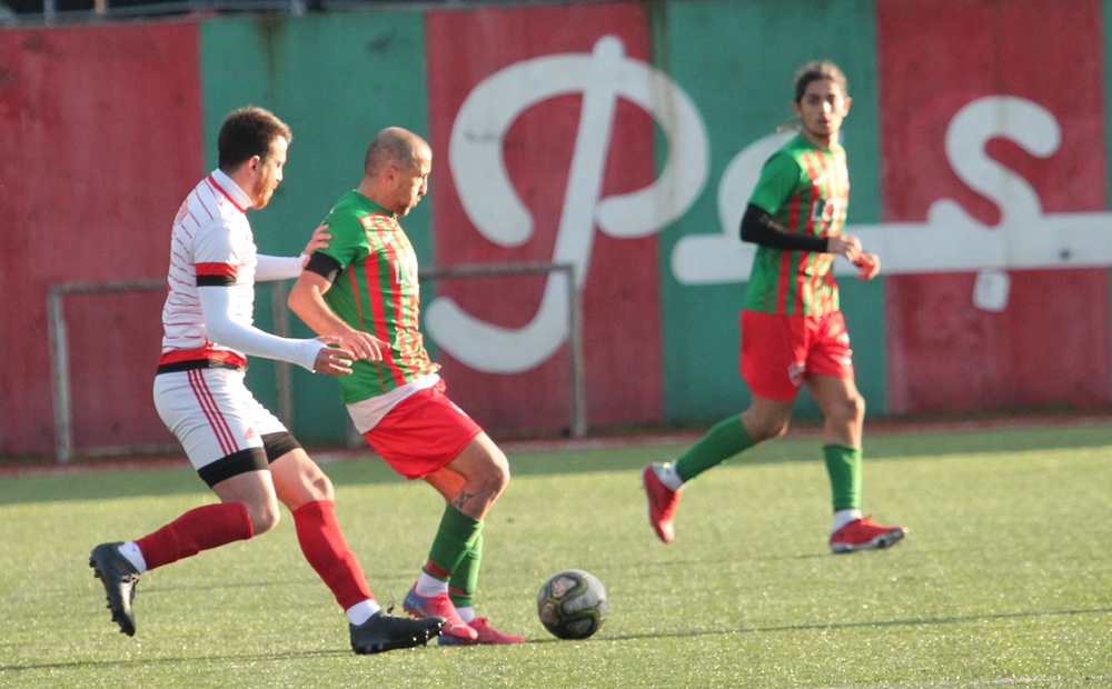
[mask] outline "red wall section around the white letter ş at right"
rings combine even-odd
[[[1046,8],[1035,0],[877,3],[885,220],[922,222],[932,202],[949,198],[984,224],[999,222],[999,209],[959,179],[944,148],[954,113],[996,94],[1029,99],[1061,127],[1049,158],[1004,139],[986,146],[1034,188],[1043,212],[1106,208],[1101,3]],[[1105,269],[1012,271],[999,313],[973,306],[974,278],[886,279],[893,412],[1109,401]]]

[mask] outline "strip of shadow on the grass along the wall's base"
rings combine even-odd
[[[674,459],[695,436],[671,438],[609,439],[567,443],[507,443],[514,476],[550,476],[598,471],[636,471],[648,462]],[[791,431],[787,437],[757,446],[729,460],[732,466],[820,460],[822,438],[815,428]],[[941,428],[915,432],[865,429],[865,457],[916,459],[954,455],[994,455],[1075,448],[1112,447],[1112,425],[1056,423],[997,428]],[[381,459],[350,451],[314,452],[337,486],[404,483]],[[135,462],[126,468],[106,462],[86,462],[61,473],[4,477],[0,465],[0,506],[22,502],[106,500],[198,493],[205,485],[185,459],[159,460],[152,467]],[[49,467],[44,467],[49,470]]]

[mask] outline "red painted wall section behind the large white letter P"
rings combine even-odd
[[[430,12],[426,28],[428,63],[435,66],[428,73],[428,89],[437,263],[552,260],[568,186],[567,171],[576,138],[582,133],[580,94],[535,103],[513,122],[502,142],[509,178],[535,223],[530,239],[518,247],[489,241],[464,211],[448,169],[453,123],[476,84],[522,60],[558,53],[589,54],[602,37],[614,36],[622,40],[627,57],[648,61],[644,9],[636,4],[598,4],[574,10],[526,7]],[[649,116],[619,100],[605,158],[603,198],[653,182],[653,141]],[[656,239],[615,239],[597,228],[590,231],[590,264],[583,292],[589,421],[659,421],[663,410]],[[489,323],[519,328],[537,312],[543,288],[542,278],[497,278],[445,280],[436,291],[438,296],[450,296],[466,312]],[[439,360],[453,397],[486,426],[552,428],[567,423],[566,344],[539,366],[509,375],[467,368],[443,350]]]

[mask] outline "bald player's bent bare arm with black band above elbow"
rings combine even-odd
[[[350,351],[356,359],[381,361],[390,343],[353,328],[325,301],[325,293],[331,289],[341,268],[339,261],[327,253],[314,253],[289,291],[287,304],[314,332],[337,338],[340,348]]]

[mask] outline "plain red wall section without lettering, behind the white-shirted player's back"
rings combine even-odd
[[[165,278],[169,224],[203,173],[197,32],[159,23],[3,38],[0,452],[38,453],[54,445],[48,286]],[[150,399],[158,299],[71,299],[72,309],[75,436],[172,440]]]

